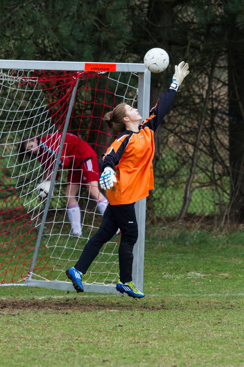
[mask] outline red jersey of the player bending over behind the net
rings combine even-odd
[[[54,167],[62,135],[63,132],[58,131],[38,140],[39,151],[37,157],[44,170]],[[93,157],[97,158],[97,155],[88,143],[76,135],[70,133],[65,135],[59,161],[60,168],[65,170],[77,169],[82,166],[84,161]]]

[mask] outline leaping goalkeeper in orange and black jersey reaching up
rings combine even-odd
[[[175,66],[172,84],[158,99],[150,111],[149,118],[143,123],[139,124],[142,117],[138,110],[126,103],[121,103],[104,116],[104,121],[109,127],[119,132],[117,139],[99,161],[100,170],[103,172],[100,186],[107,190],[109,204],[97,233],[86,243],[75,266],[66,270],[76,292],[83,292],[83,274],[103,244],[120,228],[120,279],[116,289],[134,298],[144,297],[132,282],[132,251],[138,238],[134,204],[147,197],[149,190],[153,189],[154,131],[168,112],[178,87],[188,73],[188,63],[182,61]]]

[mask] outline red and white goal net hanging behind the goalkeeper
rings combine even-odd
[[[38,69],[21,68],[23,62],[18,68],[16,63],[14,68],[3,67],[0,72],[0,283],[30,284],[36,280],[31,285],[45,281],[44,286],[70,289],[65,270],[75,265],[87,240],[97,231],[104,210],[99,205],[99,177],[91,183],[85,177],[85,170],[94,171],[95,160],[117,136],[105,126],[102,116],[121,102],[137,106],[138,86],[142,90],[139,104],[148,109],[144,71],[140,64],[139,72],[136,64],[132,72],[123,71],[129,64],[121,64],[122,71],[97,72],[91,70],[94,66],[88,71],[74,71],[72,63],[69,70],[60,69],[65,63],[60,63],[58,70],[42,65]],[[69,142],[64,143],[63,138],[62,143],[62,136],[69,137]],[[87,144],[83,150],[89,151],[81,159],[82,166],[74,163],[80,142],[77,138]],[[33,142],[43,148],[38,155],[35,146],[31,146],[32,153],[26,150]],[[65,159],[73,162],[72,169],[65,169],[60,160],[62,144]],[[89,149],[94,152],[92,160]],[[71,179],[76,174],[80,185]],[[44,178],[54,185],[54,193],[44,193],[41,198],[36,187]],[[77,183],[75,193],[67,191],[69,182]],[[102,201],[106,203],[106,198]],[[139,207],[141,218],[144,210],[144,206]],[[74,224],[80,225],[80,233],[74,233]],[[144,244],[143,232],[142,222],[140,246]],[[90,284],[96,286],[90,290],[104,291],[105,286],[117,282],[119,241],[117,233],[104,244],[86,274],[85,290]],[[136,255],[135,266],[139,268],[143,266],[143,251],[137,251],[140,256]]]

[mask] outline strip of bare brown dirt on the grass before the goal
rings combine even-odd
[[[146,306],[139,303],[140,300],[131,299],[130,304],[123,304],[121,302],[102,303],[101,301],[84,302],[83,300],[76,298],[67,298],[64,300],[54,299],[20,299],[12,301],[9,299],[0,300],[0,314],[11,312],[13,310],[53,310],[57,312],[71,311],[71,312],[91,312],[95,310],[140,310],[140,311],[155,311],[164,310],[164,304],[161,306]]]

